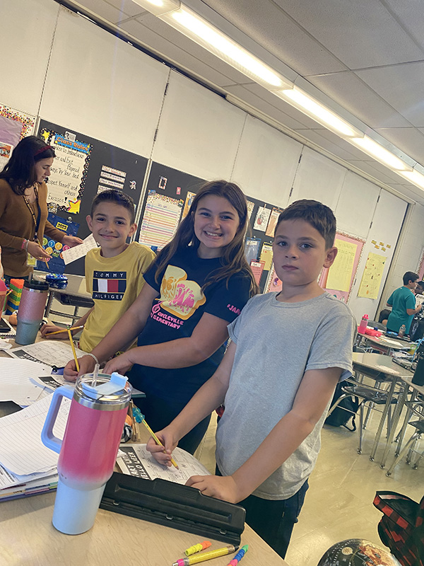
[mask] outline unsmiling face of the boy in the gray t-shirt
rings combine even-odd
[[[337,248],[326,250],[324,238],[309,222],[281,221],[273,242],[273,262],[283,282],[283,293],[294,288],[299,293],[318,290],[319,273],[322,267],[332,265],[336,254]]]

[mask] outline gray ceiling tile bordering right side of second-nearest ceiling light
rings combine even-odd
[[[308,76],[307,80],[371,128],[410,126],[351,71]]]

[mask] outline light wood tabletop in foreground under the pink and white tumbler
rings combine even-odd
[[[6,356],[4,352],[0,355]],[[0,416],[18,410],[15,403],[0,403]],[[147,436],[147,432],[141,434]],[[143,438],[143,437],[142,437]],[[52,526],[55,493],[0,502],[0,562],[7,566],[171,566],[184,550],[206,537],[99,509],[93,529],[77,536],[59,533]],[[213,548],[226,543],[213,541]],[[245,526],[241,545],[249,551],[242,566],[288,566],[262,539]],[[227,555],[206,562],[225,566]]]

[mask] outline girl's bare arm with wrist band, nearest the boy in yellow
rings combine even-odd
[[[115,352],[119,352],[119,350],[123,350],[131,344],[134,338],[141,333],[146,325],[153,301],[158,294],[158,291],[149,284],[144,285],[128,311],[119,318],[107,335],[93,349],[93,354],[98,358],[100,364],[113,356]],[[65,379],[75,381],[77,376],[93,371],[95,361],[91,356],[83,356],[78,359],[78,364],[80,366],[79,372],[76,371],[75,360],[72,359],[66,364],[64,369]]]

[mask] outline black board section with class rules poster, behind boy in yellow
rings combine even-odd
[[[40,120],[38,129],[57,158],[47,187],[49,210],[80,225],[78,236],[90,234],[86,216],[100,190],[126,192],[139,205],[148,159],[69,128]],[[65,273],[84,274],[84,258],[66,265]]]

